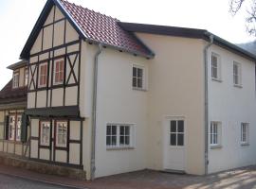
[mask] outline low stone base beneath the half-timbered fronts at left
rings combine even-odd
[[[39,163],[19,156],[0,153],[0,163],[25,168],[38,173],[59,175],[72,179],[86,180],[86,173],[82,169],[70,168],[48,163]]]

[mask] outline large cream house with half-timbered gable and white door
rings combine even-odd
[[[255,163],[255,60],[203,29],[122,23],[48,0],[28,60],[29,160],[87,179]]]

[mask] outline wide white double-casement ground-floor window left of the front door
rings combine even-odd
[[[132,125],[109,124],[106,127],[107,147],[131,147]]]

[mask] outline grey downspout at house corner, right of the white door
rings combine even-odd
[[[213,35],[210,34],[210,43],[204,48],[205,59],[205,175],[208,174],[208,122],[209,122],[209,101],[208,101],[208,50],[213,43]]]

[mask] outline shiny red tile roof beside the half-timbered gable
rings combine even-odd
[[[90,9],[60,0],[64,9],[76,22],[86,39],[114,46],[142,56],[151,57],[153,53],[132,33],[122,29],[118,19],[103,15]]]

